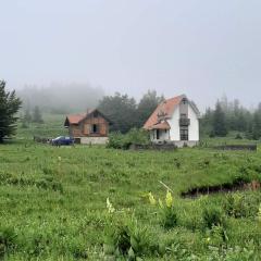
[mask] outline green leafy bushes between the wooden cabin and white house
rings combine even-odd
[[[130,145],[148,145],[149,135],[144,129],[132,128],[127,134],[113,133],[109,137],[108,148],[128,149]]]

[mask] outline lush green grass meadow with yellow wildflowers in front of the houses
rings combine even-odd
[[[181,198],[261,181],[260,150],[57,148],[33,133],[0,147],[0,259],[260,260],[260,190]]]

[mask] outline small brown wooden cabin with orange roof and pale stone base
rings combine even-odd
[[[77,144],[105,144],[110,121],[97,109],[67,115],[64,126]]]

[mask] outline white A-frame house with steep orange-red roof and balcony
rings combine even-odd
[[[144,125],[152,142],[192,147],[199,141],[199,110],[185,95],[162,101]]]

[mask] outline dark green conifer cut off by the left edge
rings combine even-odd
[[[17,121],[15,114],[21,105],[22,101],[16,97],[15,90],[7,91],[5,82],[0,80],[0,142],[15,134]]]

